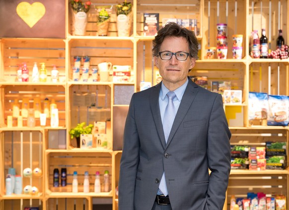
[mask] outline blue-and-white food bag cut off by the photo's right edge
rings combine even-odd
[[[287,126],[289,123],[289,97],[269,95],[268,125]]]

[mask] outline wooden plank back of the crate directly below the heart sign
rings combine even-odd
[[[37,62],[44,62],[47,69],[47,82],[51,81],[53,65],[57,66],[60,81],[65,82],[65,42],[62,39],[2,39],[3,45],[3,75],[1,81],[15,82],[18,65],[27,63],[29,81],[32,81],[32,68]]]

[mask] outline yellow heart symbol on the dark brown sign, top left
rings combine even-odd
[[[17,5],[16,12],[32,28],[44,16],[45,6],[40,2],[30,4],[23,1]]]

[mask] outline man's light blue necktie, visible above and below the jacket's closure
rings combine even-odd
[[[163,127],[165,142],[167,143],[167,140],[168,140],[168,137],[169,137],[169,134],[170,134],[170,131],[171,131],[174,119],[175,119],[175,106],[174,106],[173,100],[176,97],[176,94],[170,91],[166,95],[168,97],[168,103],[164,111],[162,127]],[[164,173],[162,174],[158,189],[164,196],[168,195]]]

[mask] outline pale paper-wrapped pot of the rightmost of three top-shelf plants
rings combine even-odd
[[[128,15],[119,14],[117,16],[117,34],[118,36],[130,36],[133,23],[133,12]]]

